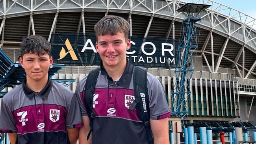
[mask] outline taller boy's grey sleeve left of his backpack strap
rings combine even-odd
[[[75,91],[76,98],[78,100],[82,116],[88,116],[86,108],[85,108],[84,100],[83,100],[83,92],[84,92],[83,88],[85,85],[86,78],[87,77],[85,77],[81,81],[79,81],[78,85],[76,86],[76,91]]]

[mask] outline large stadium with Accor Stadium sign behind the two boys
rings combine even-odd
[[[130,23],[134,49],[128,58],[163,83],[173,113],[170,131],[182,131],[184,124],[194,126],[195,131],[199,126],[214,127],[216,133],[243,127],[250,135],[256,130],[256,20],[211,0],[195,3],[208,7],[198,14],[201,21],[193,38],[197,48],[188,63],[188,67],[193,65],[193,73],[186,81],[191,90],[182,106],[186,114],[175,114],[172,93],[179,79],[175,66],[182,59],[175,52],[187,18],[177,10],[186,4],[181,0],[3,0],[1,62],[16,63],[22,38],[41,35],[52,43],[54,63],[63,65],[53,70],[52,79],[74,91],[79,79],[99,66],[94,25],[105,15],[118,15]],[[70,49],[74,53],[60,53]],[[3,69],[7,69],[2,64],[1,96],[13,88],[13,84],[6,85]]]

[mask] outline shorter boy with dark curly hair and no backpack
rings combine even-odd
[[[74,93],[48,76],[53,63],[50,43],[32,35],[20,44],[24,83],[2,99],[0,131],[11,144],[74,144],[83,126]]]

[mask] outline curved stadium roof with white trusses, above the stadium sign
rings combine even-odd
[[[180,0],[4,0],[1,48],[19,48],[24,35],[42,35],[50,41],[51,33],[94,34],[96,22],[111,14],[130,22],[131,36],[179,39],[187,16],[176,10],[184,4]],[[202,57],[201,70],[218,72],[223,67],[237,70],[241,78],[255,76],[256,20],[211,0],[197,4],[211,5],[200,13],[196,54]],[[11,59],[17,57],[5,52]]]

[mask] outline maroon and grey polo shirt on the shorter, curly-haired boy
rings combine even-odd
[[[25,82],[3,97],[0,131],[17,133],[18,144],[69,144],[67,128],[83,126],[74,93],[50,79],[41,92]]]

